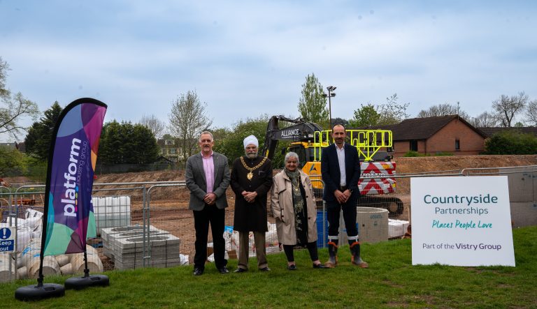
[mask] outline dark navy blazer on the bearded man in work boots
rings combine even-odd
[[[360,179],[358,149],[347,143],[343,147],[345,149],[345,179],[349,190],[352,192],[349,202],[357,202],[360,197],[360,191],[358,190],[358,180]],[[327,202],[337,202],[334,191],[339,188],[341,173],[339,172],[336,144],[331,144],[322,149],[321,175],[322,181],[324,181],[323,199]]]

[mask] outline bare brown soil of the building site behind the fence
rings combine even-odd
[[[490,167],[515,167],[525,165],[537,165],[537,155],[528,156],[443,156],[443,157],[418,157],[397,158],[397,174],[415,174],[424,172],[455,173],[461,169],[490,168]],[[4,178],[12,188],[23,183],[27,179],[20,177]],[[139,183],[152,181],[184,181],[184,171],[159,171],[138,172],[124,174],[97,175],[94,182],[94,196],[129,195],[131,197],[131,221],[132,224],[143,224],[143,190],[139,184],[124,184],[115,186],[99,186],[99,183]],[[152,184],[145,185],[149,189]],[[397,180],[397,195],[405,204],[410,202],[410,179]],[[146,191],[147,192],[147,191]],[[150,199],[150,208],[145,209],[145,218],[150,218],[150,224],[180,237],[182,240],[181,253],[193,256],[194,251],[194,219],[192,211],[188,210],[189,191],[181,186],[155,187],[149,190],[146,199]],[[41,204],[42,197],[36,197],[36,204]],[[233,225],[234,193],[231,188],[227,190],[229,208],[226,213],[226,225]],[[408,220],[408,213],[399,216],[401,220]],[[271,220],[270,220],[271,221]],[[210,235],[210,234],[209,234]],[[209,236],[210,237],[210,236]],[[106,259],[103,262],[108,263]]]

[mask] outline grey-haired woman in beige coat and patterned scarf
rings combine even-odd
[[[296,270],[294,246],[308,248],[313,268],[324,269],[317,255],[317,209],[308,175],[299,168],[299,156],[285,155],[285,169],[273,178],[271,210],[276,219],[278,241],[287,256],[287,269]]]

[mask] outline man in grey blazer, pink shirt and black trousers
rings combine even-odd
[[[199,135],[200,153],[187,159],[185,180],[190,190],[189,209],[194,212],[196,253],[194,276],[201,276],[207,259],[207,236],[213,231],[215,265],[220,273],[229,273],[224,258],[224,209],[227,207],[226,189],[229,186],[229,166],[226,156],[213,151],[213,135],[204,131]]]

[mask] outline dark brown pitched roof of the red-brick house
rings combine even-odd
[[[485,133],[482,133],[480,130],[473,127],[466,120],[459,117],[459,115],[405,119],[398,124],[389,126],[368,126],[366,129],[391,130],[394,137],[394,141],[427,140],[429,139],[429,137],[435,135],[443,127],[447,126],[447,123],[450,123],[455,119],[466,124],[466,126],[474,130],[482,137],[487,137]]]

